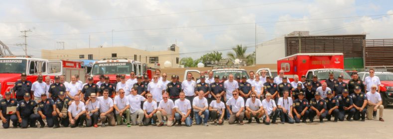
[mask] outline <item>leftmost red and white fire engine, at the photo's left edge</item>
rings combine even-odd
[[[0,58],[0,94],[4,96],[6,91],[12,91],[17,80],[20,80],[20,74],[26,73],[27,80],[34,82],[38,74],[45,78],[50,76],[51,83],[54,82],[55,75],[65,75],[66,80],[71,79],[72,75],[84,75],[80,62],[72,61],[48,61],[44,59],[30,57],[2,57]],[[80,78],[84,81],[84,78]]]

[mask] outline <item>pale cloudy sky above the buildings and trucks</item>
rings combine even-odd
[[[24,46],[17,45],[24,44],[20,31],[30,30],[27,53],[36,58],[43,58],[41,49],[62,49],[60,42],[65,49],[147,51],[177,44],[181,58],[210,51],[226,57],[236,45],[252,53],[256,41],[292,31],[393,38],[392,5],[393,0],[2,0],[0,41],[24,55]]]

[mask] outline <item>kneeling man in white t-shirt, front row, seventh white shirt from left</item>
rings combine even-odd
[[[162,120],[163,117],[166,117],[167,119],[166,126],[168,127],[173,126],[174,124],[173,120],[175,118],[175,103],[173,103],[173,101],[169,99],[167,93],[162,95],[162,100],[158,104],[156,114],[157,114],[158,122],[160,122],[158,127],[164,125],[164,121]]]

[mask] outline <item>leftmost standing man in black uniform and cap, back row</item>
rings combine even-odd
[[[23,95],[25,93],[31,93],[31,85],[31,81],[26,80],[26,73],[21,73],[20,80],[16,81],[15,85],[12,88],[12,96],[14,96],[16,92],[16,100],[23,100]]]

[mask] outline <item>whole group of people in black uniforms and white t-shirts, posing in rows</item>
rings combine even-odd
[[[345,83],[343,76],[320,83],[316,75],[307,82],[305,76],[301,80],[297,75],[294,81],[288,82],[284,71],[276,77],[267,76],[266,71],[260,73],[250,71],[246,75],[236,77],[201,75],[193,80],[192,74],[179,82],[179,77],[171,76],[167,80],[166,73],[156,74],[149,80],[147,76],[136,76],[133,71],[130,79],[118,74],[116,82],[111,83],[109,76],[100,76],[94,82],[88,77],[83,84],[78,75],[66,82],[64,75],[55,76],[50,84],[49,76],[43,80],[38,75],[37,81],[31,83],[22,73],[15,82],[12,92],[5,92],[0,101],[0,118],[3,128],[36,127],[101,127],[116,125],[138,126],[179,126],[184,123],[192,126],[223,125],[226,119],[229,124],[251,123],[253,118],[266,125],[280,123],[312,123],[318,117],[333,122],[375,119],[379,110],[379,121],[384,121],[381,95],[378,92],[381,84],[379,78],[370,70],[365,82],[357,73]],[[143,78],[143,80],[142,80]],[[48,81],[49,80],[49,81]],[[11,96],[15,96],[12,98]],[[14,109],[14,110],[13,110]],[[346,116],[347,115],[347,116]],[[158,121],[158,123],[157,123]]]

